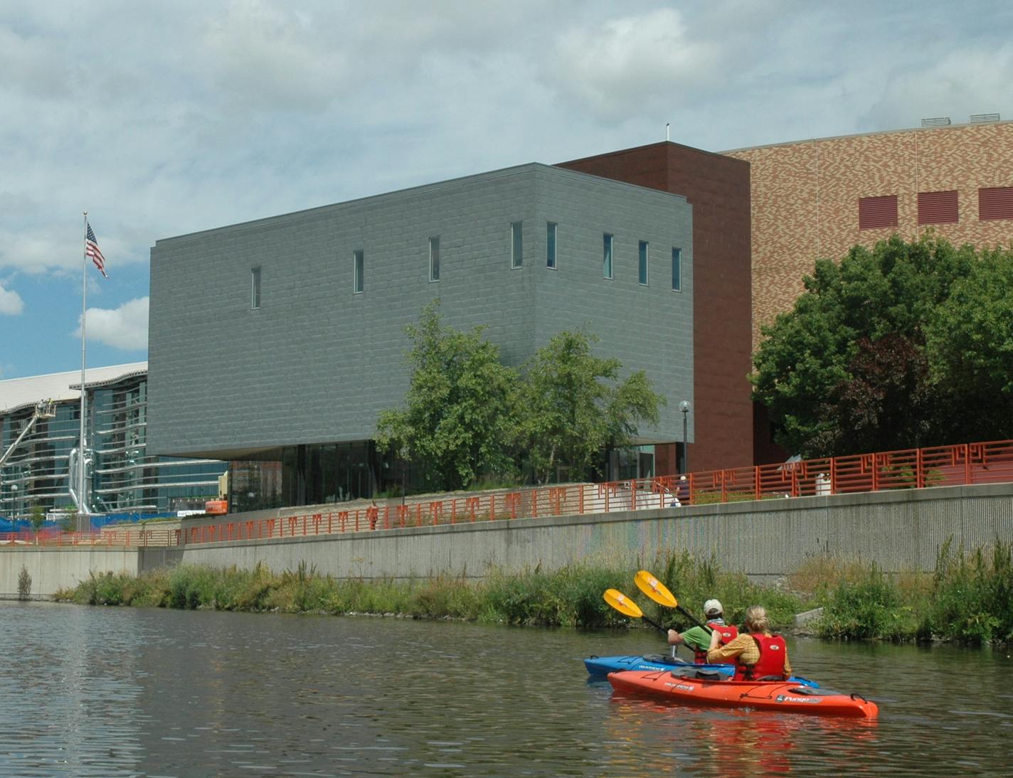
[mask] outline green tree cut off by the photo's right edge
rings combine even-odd
[[[925,335],[952,439],[1013,438],[1013,249],[983,251]]]

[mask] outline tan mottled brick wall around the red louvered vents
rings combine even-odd
[[[915,239],[918,192],[957,190],[959,222],[932,229],[953,243],[1013,243],[1013,220],[980,222],[978,189],[1013,186],[1013,122],[905,130],[739,149],[751,163],[753,349],[760,327],[789,310],[816,257],[840,258],[894,231]],[[898,196],[898,227],[858,229],[859,198]]]

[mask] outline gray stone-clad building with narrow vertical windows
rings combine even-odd
[[[641,442],[682,441],[691,206],[533,163],[157,241],[149,449],[281,461],[288,504],[371,493],[377,415],[408,385],[404,328],[434,298],[514,365],[587,327],[668,399]]]

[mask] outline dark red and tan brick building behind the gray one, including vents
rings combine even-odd
[[[746,379],[761,327],[790,310],[817,257],[893,233],[1013,244],[1013,122],[736,149],[656,143],[560,166],[683,194],[693,206],[692,470],[783,460]],[[676,471],[657,447],[658,473]]]

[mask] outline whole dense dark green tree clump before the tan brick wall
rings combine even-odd
[[[819,260],[754,355],[775,440],[813,457],[1013,437],[1011,274],[1009,250],[931,236]]]

